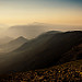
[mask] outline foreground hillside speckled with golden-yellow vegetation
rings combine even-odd
[[[82,60],[5,75],[0,82],[82,82]]]

